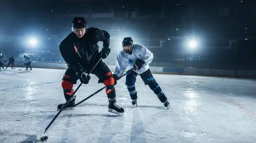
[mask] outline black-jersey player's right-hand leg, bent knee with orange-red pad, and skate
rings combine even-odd
[[[109,111],[112,112],[114,110],[118,113],[123,113],[124,109],[116,104],[114,84],[115,80],[108,66],[100,61],[95,69],[92,71],[92,74],[95,74],[99,78],[99,83],[103,83],[106,86],[106,94],[109,101]]]

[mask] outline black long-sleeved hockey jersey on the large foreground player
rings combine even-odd
[[[76,71],[92,67],[99,59],[98,42],[103,42],[103,47],[108,48],[110,35],[98,28],[89,28],[82,38],[71,32],[59,45],[63,59]]]

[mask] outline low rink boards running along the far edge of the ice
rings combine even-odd
[[[5,63],[6,64],[6,63]],[[23,67],[24,62],[15,61],[15,67]],[[67,69],[65,63],[50,62],[32,62],[32,67],[49,69]],[[115,70],[115,65],[108,65],[111,71]],[[200,69],[188,67],[150,67],[151,72],[157,74],[179,74],[179,75],[197,75],[197,76],[224,76],[239,78],[256,78],[256,71],[234,70],[234,69]]]

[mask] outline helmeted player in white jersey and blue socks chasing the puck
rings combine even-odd
[[[133,44],[131,37],[125,37],[123,39],[122,46],[123,50],[117,55],[117,64],[113,76],[114,79],[116,79],[125,72],[125,69],[130,70],[134,67],[134,70],[130,74],[126,75],[125,81],[132,99],[132,104],[135,107],[137,106],[135,82],[136,76],[139,74],[145,85],[148,85],[164,106],[169,108],[169,101],[149,69],[149,64],[153,60],[153,53],[141,44]]]

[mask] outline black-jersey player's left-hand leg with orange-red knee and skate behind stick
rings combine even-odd
[[[77,72],[72,68],[68,67],[61,82],[61,86],[64,92],[64,97],[66,101],[68,101],[72,94],[74,93],[73,85],[77,84]],[[64,104],[59,104],[58,109],[60,109]],[[75,96],[69,102],[69,104],[65,108],[70,108],[75,106]]]

